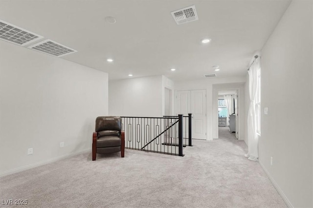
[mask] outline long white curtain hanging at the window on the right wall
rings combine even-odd
[[[258,71],[260,70],[260,58],[255,59],[248,70],[249,74],[249,97],[250,106],[248,111],[248,153],[245,156],[249,160],[258,161],[258,136],[256,133],[256,90],[258,82]]]

